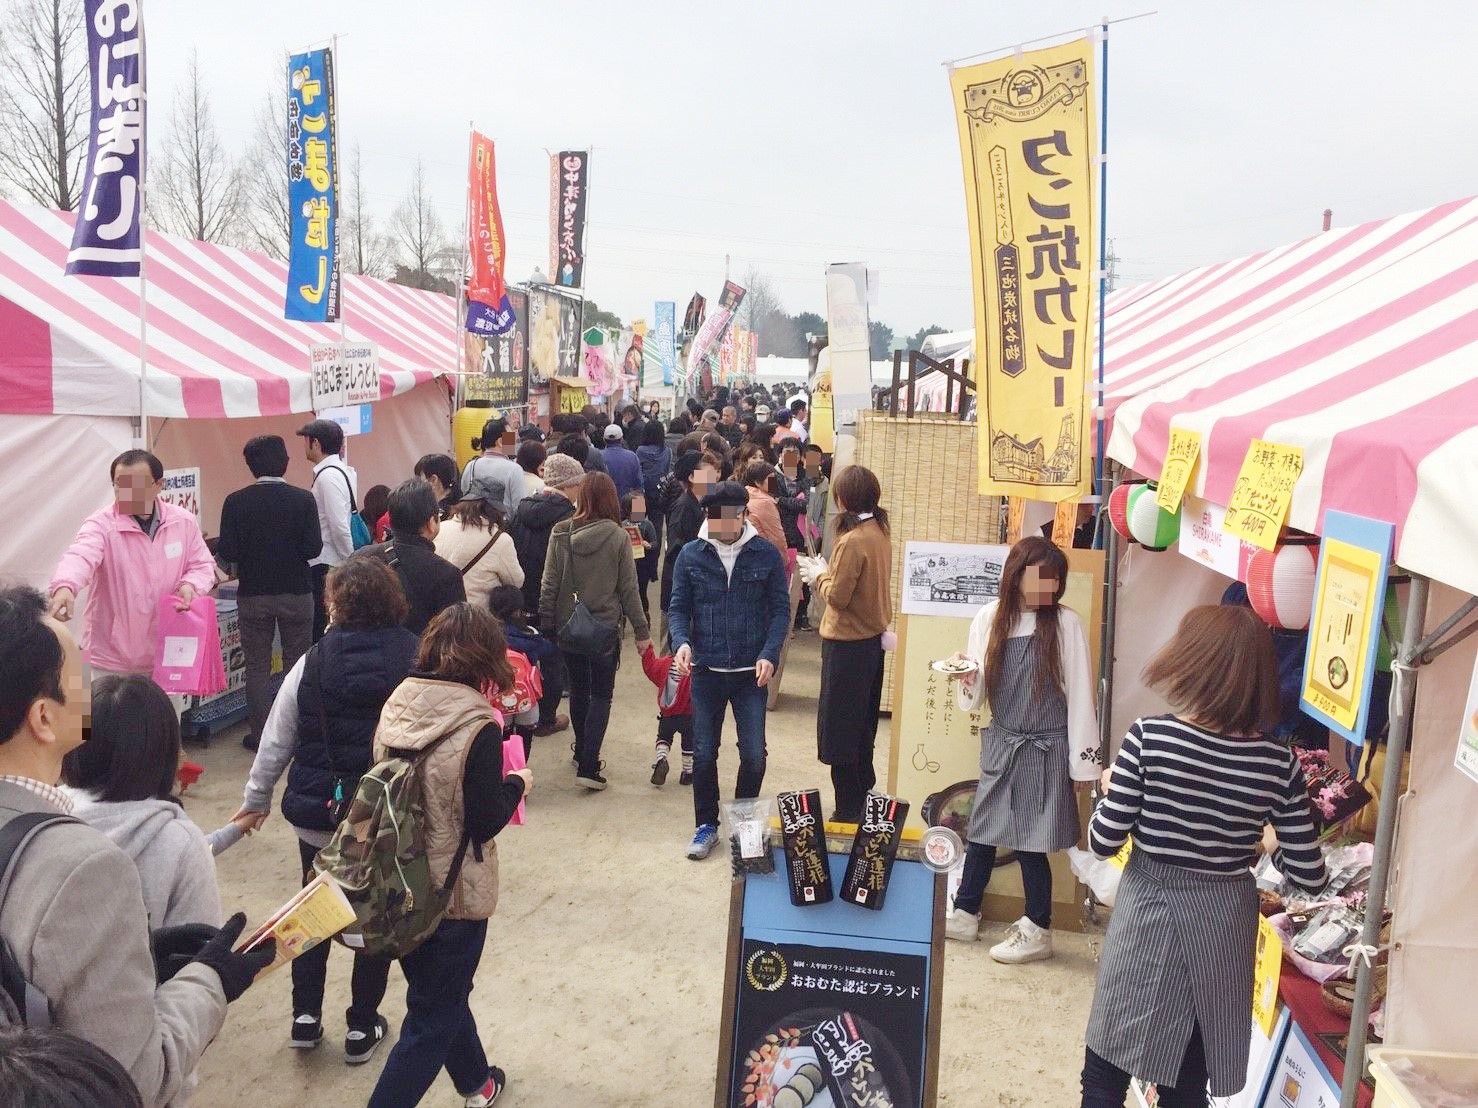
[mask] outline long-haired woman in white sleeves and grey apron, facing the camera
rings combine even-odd
[[[946,934],[978,937],[996,849],[1012,849],[1026,914],[990,948],[996,962],[1012,965],[1052,956],[1046,855],[1077,845],[1075,784],[1088,792],[1100,770],[1088,635],[1063,606],[1066,591],[1067,555],[1041,536],[1021,539],[1007,555],[998,598],[975,613],[965,652],[952,657],[975,663],[950,675],[959,681],[959,708],[987,703],[990,724],[980,730],[980,784]]]

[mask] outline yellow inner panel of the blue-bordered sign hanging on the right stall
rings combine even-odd
[[[1326,538],[1320,550],[1318,592],[1308,628],[1304,700],[1346,731],[1360,718],[1373,620],[1385,603],[1380,551]]]

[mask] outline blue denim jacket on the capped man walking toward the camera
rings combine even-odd
[[[672,650],[693,649],[693,665],[738,669],[761,657],[780,665],[791,629],[791,591],[774,544],[751,538],[739,551],[733,578],[708,539],[693,539],[677,555],[667,613]]]

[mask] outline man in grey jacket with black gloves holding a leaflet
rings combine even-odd
[[[62,759],[86,740],[89,702],[81,652],[46,615],[46,598],[30,588],[0,589],[0,835],[18,818],[68,813],[56,786]],[[157,932],[161,963],[177,969],[157,984],[129,855],[83,823],[53,823],[34,836],[13,855],[9,883],[0,883],[0,940],[50,1003],[55,1027],[112,1055],[145,1104],[170,1104],[220,1031],[226,1003],[272,960],[272,944],[232,953],[241,914],[219,932]]]

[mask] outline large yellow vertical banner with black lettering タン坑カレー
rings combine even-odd
[[[1085,496],[1098,298],[1092,44],[971,65],[949,80],[974,270],[980,492]]]

